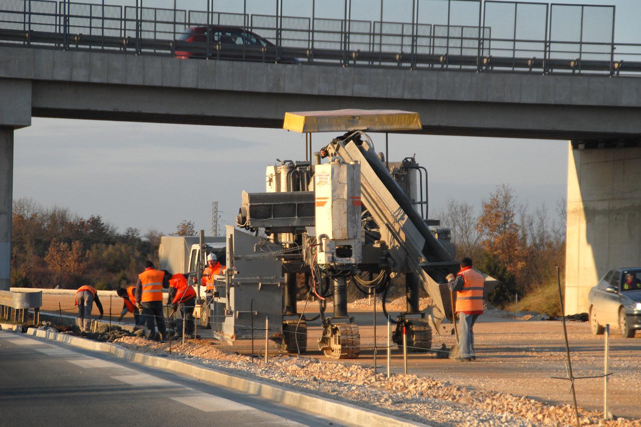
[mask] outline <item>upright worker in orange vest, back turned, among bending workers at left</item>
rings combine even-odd
[[[154,322],[158,325],[160,331],[160,340],[167,339],[167,330],[165,330],[165,316],[162,312],[162,290],[169,288],[169,275],[162,270],[156,270],[154,263],[145,262],[145,271],[138,274],[136,283],[136,306],[142,311],[142,315],[147,321],[149,338],[156,339],[156,328]]]

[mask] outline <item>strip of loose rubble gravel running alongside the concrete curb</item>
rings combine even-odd
[[[548,405],[534,399],[490,390],[460,387],[426,376],[395,374],[387,380],[371,368],[313,358],[281,356],[266,364],[262,359],[225,353],[205,340],[184,345],[121,337],[115,342],[128,349],[155,355],[188,358],[238,376],[262,378],[288,388],[337,401],[375,408],[435,426],[565,426],[574,424],[569,405]],[[603,422],[600,414],[579,410],[582,425],[641,426],[641,420],[619,418]]]

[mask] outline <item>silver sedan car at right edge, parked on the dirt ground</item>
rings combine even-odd
[[[641,267],[614,269],[590,289],[588,307],[594,335],[604,332],[604,325],[619,326],[621,336],[632,338],[641,329]]]

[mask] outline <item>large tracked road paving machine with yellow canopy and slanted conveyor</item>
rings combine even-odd
[[[413,157],[387,162],[366,133],[420,130],[419,114],[286,113],[283,128],[340,135],[312,160],[268,166],[265,192],[242,193],[237,227],[250,233],[227,228],[228,269],[217,281],[212,310],[215,335],[247,337],[254,322],[269,317],[284,349],[306,351],[310,318],[297,310],[304,284],[305,300],[313,296],[319,303],[312,318],[322,320],[319,349],[332,358],[356,358],[360,334],[347,312],[348,287],[382,294],[385,310],[390,287],[404,285],[406,310],[392,319],[394,341],[401,346],[405,330],[411,351],[428,351],[432,331],[452,320],[444,282],[459,264],[449,230],[429,228],[439,222],[427,219],[426,169]],[[419,308],[421,287],[431,298],[426,310]]]

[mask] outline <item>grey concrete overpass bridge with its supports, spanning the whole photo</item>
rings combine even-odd
[[[445,0],[452,2],[456,0]],[[27,3],[31,11],[24,10]],[[458,31],[449,15],[447,28],[439,30],[447,33],[444,41],[436,24],[429,24],[431,32],[421,27],[428,24],[418,14],[413,14],[408,40],[404,33],[383,33],[391,26],[383,19],[378,35],[370,22],[365,40],[363,33],[350,33],[351,25],[358,25],[345,15],[338,20],[342,29],[335,46],[319,45],[318,40],[334,40],[328,37],[337,31],[324,34],[304,26],[294,31],[294,24],[283,26],[287,17],[280,10],[274,15],[273,46],[261,50],[262,58],[248,56],[253,47],[244,45],[231,51],[237,60],[222,60],[221,49],[228,46],[185,46],[176,37],[176,28],[212,24],[215,16],[217,22],[233,23],[221,12],[208,11],[209,21],[173,19],[169,31],[167,21],[145,18],[151,8],[135,8],[135,19],[131,10],[121,8],[124,17],[109,25],[102,12],[96,33],[96,5],[88,8],[94,13],[88,18],[71,2],[0,1],[0,289],[8,289],[10,273],[13,130],[29,126],[33,116],[279,128],[287,110],[397,108],[419,112],[422,133],[571,141],[566,307],[568,312],[585,311],[587,289],[597,276],[620,265],[641,264],[639,64],[615,55],[613,22],[612,38],[605,42],[585,41],[583,28],[578,43],[555,42],[551,22],[558,19],[554,21],[555,5],[547,4],[542,5],[546,31],[541,56],[527,60],[524,55],[535,46],[532,39],[508,39],[510,50],[506,39],[489,35],[500,33],[495,24],[488,25],[497,21],[487,12],[501,6],[494,3],[505,4],[483,3],[476,33],[458,26],[458,42],[449,37]],[[7,12],[6,4],[24,7]],[[42,12],[51,4],[56,6],[53,15]],[[517,11],[529,3],[508,4],[517,22]],[[39,12],[33,10],[36,5]],[[583,22],[585,8],[595,6],[579,7]],[[180,15],[179,10],[164,11]],[[184,16],[197,16],[191,12]],[[611,13],[613,19],[613,9]],[[260,20],[243,14],[241,22],[249,21]],[[150,37],[150,22],[165,31]],[[74,31],[78,28],[89,34]],[[408,30],[401,26],[401,31]],[[301,33],[307,39],[296,38]],[[355,40],[360,44],[354,45]],[[578,56],[562,58],[563,52],[554,49],[562,46],[570,55],[570,45],[576,45]],[[490,54],[490,46],[500,48],[499,54]],[[207,59],[179,60],[174,57],[179,49],[200,49]],[[291,55],[299,63],[279,62]]]

